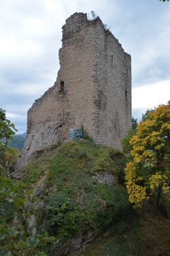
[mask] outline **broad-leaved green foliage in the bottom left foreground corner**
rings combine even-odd
[[[25,186],[19,181],[0,176],[0,255],[1,256],[45,256],[46,244],[54,238],[29,236],[26,220],[29,212],[24,203]],[[44,249],[43,249],[44,248]]]

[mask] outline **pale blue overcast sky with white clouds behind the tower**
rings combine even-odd
[[[131,55],[133,116],[170,100],[170,1],[0,0],[0,108],[19,134],[56,81],[65,20],[92,10]]]

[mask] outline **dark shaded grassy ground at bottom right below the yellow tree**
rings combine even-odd
[[[164,198],[165,202],[169,208],[169,197]],[[170,221],[167,213],[165,216],[162,213],[156,214],[148,208],[132,210],[85,251],[70,256],[169,256]]]

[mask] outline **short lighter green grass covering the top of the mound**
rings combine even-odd
[[[86,180],[85,176],[95,171],[109,171],[120,173],[124,168],[124,157],[113,159],[113,150],[108,147],[96,145],[92,141],[69,141],[56,149],[50,150],[22,168],[22,173],[27,171],[23,181],[28,185],[48,171],[50,182],[58,188],[67,183],[82,186],[92,179]]]

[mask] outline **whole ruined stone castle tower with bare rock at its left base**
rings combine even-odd
[[[20,166],[70,128],[84,126],[96,143],[116,149],[131,128],[131,56],[99,17],[83,13],[66,20],[62,42],[56,82],[28,111]]]

